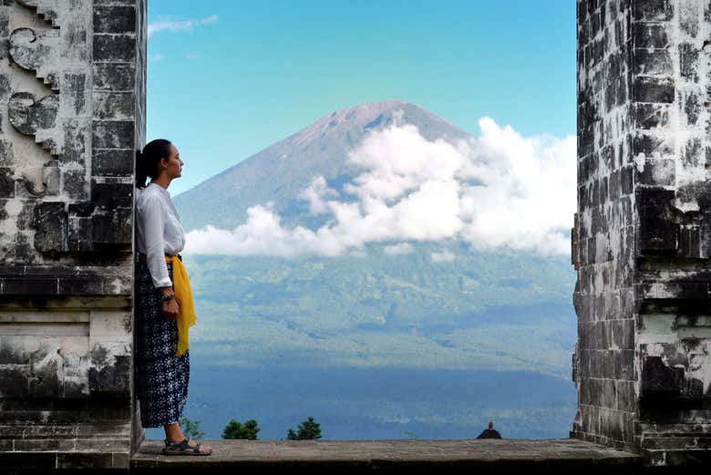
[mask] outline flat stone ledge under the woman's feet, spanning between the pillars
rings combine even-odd
[[[144,440],[131,473],[203,466],[211,470],[414,470],[541,468],[576,475],[636,473],[643,457],[578,439],[204,440],[208,456],[166,456],[162,440]],[[256,471],[255,471],[256,472]]]

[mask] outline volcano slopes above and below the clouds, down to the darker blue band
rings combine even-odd
[[[345,162],[348,151],[395,120],[428,140],[470,138],[405,101],[338,109],[175,197],[186,231],[208,223],[232,230],[268,201],[285,228],[316,230],[332,216],[310,214],[298,194],[318,175],[342,191],[362,171]],[[408,243],[407,253],[386,253],[386,244],[335,257],[185,255],[200,315],[194,349],[221,364],[465,367],[570,379],[569,256],[475,252],[456,237]],[[449,259],[433,258],[443,250]]]

